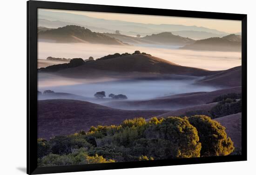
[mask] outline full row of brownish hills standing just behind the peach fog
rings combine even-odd
[[[182,46],[186,50],[241,51],[242,38],[230,34],[201,40],[181,37],[172,32],[162,32],[145,37],[131,37],[119,33],[93,32],[78,25],[67,25],[57,29],[38,27],[38,39],[57,43],[94,43],[94,44],[160,44]]]

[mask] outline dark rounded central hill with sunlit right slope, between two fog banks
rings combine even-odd
[[[65,67],[66,68],[66,67]],[[41,69],[40,71],[47,71]],[[91,76],[137,76],[162,74],[178,75],[196,75],[206,76],[216,74],[218,71],[209,71],[192,67],[180,66],[178,64],[166,61],[164,59],[143,55],[133,54],[117,56],[109,59],[98,59],[92,62],[86,62],[75,68],[66,68],[56,73],[63,76],[72,77],[91,77]]]

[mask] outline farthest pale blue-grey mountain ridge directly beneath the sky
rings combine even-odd
[[[143,24],[136,22],[127,22],[121,20],[108,20],[93,18],[86,15],[72,14],[67,12],[50,12],[46,10],[40,10],[38,12],[40,19],[47,19],[52,21],[65,21],[75,23],[77,25],[94,26],[97,28],[105,28],[108,30],[119,30],[123,32],[133,32],[136,34],[143,33],[160,33],[164,31],[205,31],[215,34],[228,35],[229,33],[218,31],[215,29],[209,29],[206,27],[198,27],[195,25],[172,25],[172,24]],[[47,26],[46,26],[47,27]],[[108,32],[108,31],[104,31]]]

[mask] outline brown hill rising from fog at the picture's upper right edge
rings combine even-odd
[[[180,49],[241,52],[241,47],[241,36],[231,34],[222,38],[215,37],[197,40],[195,43],[185,45]]]

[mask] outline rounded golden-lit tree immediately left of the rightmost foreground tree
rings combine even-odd
[[[151,125],[145,131],[146,138],[164,139],[174,150],[169,155],[178,157],[199,157],[201,143],[197,131],[187,118],[168,117],[158,125]]]

